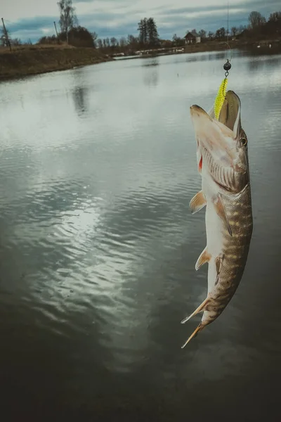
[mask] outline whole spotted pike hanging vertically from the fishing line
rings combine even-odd
[[[192,214],[206,206],[207,246],[195,269],[208,263],[207,298],[181,321],[203,312],[202,320],[182,346],[211,324],[233,297],[247,262],[253,218],[247,135],[241,126],[241,102],[234,91],[227,91],[215,117],[200,106],[191,106],[197,139],[197,165],[202,190],[190,200]]]

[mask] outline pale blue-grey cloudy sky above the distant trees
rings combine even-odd
[[[98,36],[122,37],[137,34],[141,18],[155,18],[159,36],[183,37],[187,30],[215,31],[227,27],[228,0],[73,0],[79,25]],[[266,18],[281,10],[280,0],[230,0],[229,26],[246,25],[251,11]],[[54,33],[58,25],[57,0],[0,0],[1,17],[11,37],[37,41]]]

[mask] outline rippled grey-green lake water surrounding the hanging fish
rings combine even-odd
[[[280,420],[281,56],[233,52],[254,232],[233,300],[181,350],[207,293],[189,107],[211,107],[225,58],[0,84],[5,422]]]

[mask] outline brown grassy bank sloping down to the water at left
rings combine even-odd
[[[0,80],[67,70],[110,61],[96,49],[72,46],[25,46],[0,50]]]

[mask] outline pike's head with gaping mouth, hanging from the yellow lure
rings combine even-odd
[[[209,173],[222,189],[238,193],[249,182],[247,135],[241,126],[241,102],[233,91],[226,93],[218,120],[214,111],[191,106],[197,139],[198,170]]]

